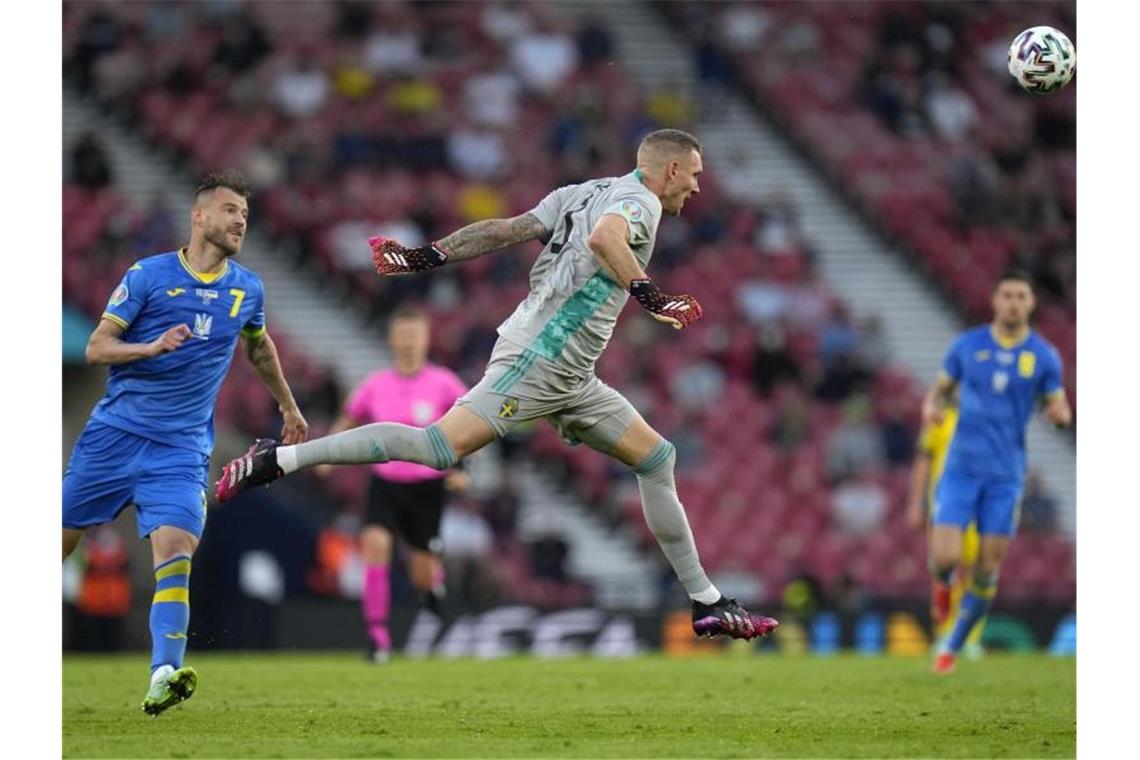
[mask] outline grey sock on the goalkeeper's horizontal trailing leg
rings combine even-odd
[[[277,448],[277,464],[286,474],[312,465],[364,465],[392,460],[447,469],[455,465],[457,458],[435,425],[412,427],[398,423],[361,425],[308,443]]]

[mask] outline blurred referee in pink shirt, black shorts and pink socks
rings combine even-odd
[[[427,361],[431,326],[422,310],[397,309],[389,322],[388,341],[392,367],[373,373],[352,391],[329,435],[370,423],[424,427],[442,417],[466,393],[455,373]],[[438,553],[445,493],[466,488],[467,475],[459,469],[440,472],[408,461],[376,464],[372,468],[360,531],[365,563],[361,602],[372,638],[370,659],[380,663],[388,660],[392,648],[388,631],[392,537],[402,536],[409,546],[412,585],[430,602],[438,602],[443,588],[443,566]],[[332,465],[321,465],[317,474],[327,476],[332,469]]]

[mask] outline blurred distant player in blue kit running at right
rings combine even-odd
[[[935,492],[930,531],[931,616],[936,622],[945,618],[950,605],[962,531],[974,521],[982,537],[958,622],[934,663],[937,673],[953,672],[962,643],[997,591],[997,572],[1017,531],[1029,417],[1042,404],[1045,417],[1057,426],[1073,419],[1061,384],[1060,356],[1029,328],[1034,305],[1029,276],[1016,270],[1003,273],[993,292],[993,322],[958,336],[922,404],[923,422],[936,425],[944,403],[959,390],[958,430]]]

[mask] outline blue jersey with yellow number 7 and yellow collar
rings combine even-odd
[[[205,275],[182,251],[161,253],[128,270],[103,318],[123,327],[128,343],[149,343],[180,324],[192,335],[170,353],[113,366],[91,418],[209,455],[214,401],[237,336],[266,329],[261,279],[231,261]]]

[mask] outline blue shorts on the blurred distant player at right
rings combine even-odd
[[[1019,481],[986,480],[963,473],[944,473],[935,491],[934,524],[966,530],[970,522],[979,536],[1017,533],[1021,510]]]

